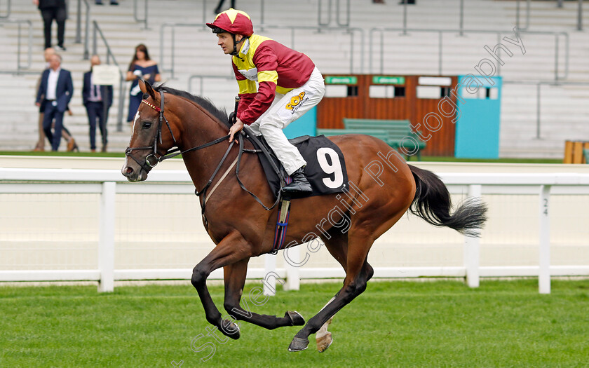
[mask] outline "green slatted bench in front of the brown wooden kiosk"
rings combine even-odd
[[[422,141],[417,134],[411,131],[408,120],[380,120],[380,119],[352,119],[344,118],[346,130],[386,130],[387,137],[383,139],[389,146],[399,149],[401,142],[403,148],[409,152],[417,149],[417,159],[421,161],[421,150],[426,148],[426,142]],[[414,139],[406,139],[412,137]],[[409,156],[407,155],[407,161]]]

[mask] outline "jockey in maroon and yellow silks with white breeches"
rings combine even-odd
[[[243,11],[231,8],[207,25],[217,34],[223,52],[233,56],[239,86],[237,119],[229,130],[229,142],[243,124],[250,125],[256,135],[264,136],[292,177],[283,191],[311,192],[304,175],[306,161],[282,130],[323,98],[325,83],[320,71],[307,55],[254,34],[250,16]]]

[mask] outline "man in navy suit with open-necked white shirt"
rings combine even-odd
[[[51,150],[57,151],[60,148],[63,114],[67,110],[69,100],[74,95],[74,83],[72,73],[61,69],[61,56],[53,54],[49,58],[49,68],[43,71],[41,83],[37,90],[35,104],[43,108],[43,132],[51,142]],[[51,132],[51,123],[55,119],[54,131]]]

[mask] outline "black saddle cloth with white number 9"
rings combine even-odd
[[[276,155],[266,143],[266,139],[261,135],[256,138],[262,145],[264,145],[263,149],[269,151],[270,157],[274,161],[276,167],[280,169],[280,177],[278,177],[273,170],[271,163],[268,161],[268,157],[262,152],[258,154],[259,161],[262,163],[262,168],[264,168],[266,179],[268,179],[272,193],[274,193],[275,197],[278,197],[280,192],[280,180],[285,180],[288,175],[282,164],[280,164],[280,161],[278,161],[278,158],[276,158]],[[262,149],[255,140],[250,139],[250,142],[252,142],[256,149]],[[306,178],[309,179],[309,183],[313,189],[313,192],[298,195],[297,198],[342,193],[344,190],[348,189],[348,172],[346,171],[344,154],[341,153],[341,149],[339,149],[334,142],[327,139],[324,135],[318,137],[304,135],[302,137],[289,139],[288,142],[299,149],[299,152],[306,161],[307,165],[304,168],[304,173]]]

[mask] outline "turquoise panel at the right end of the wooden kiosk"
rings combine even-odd
[[[456,139],[458,158],[499,158],[500,76],[458,77]]]

